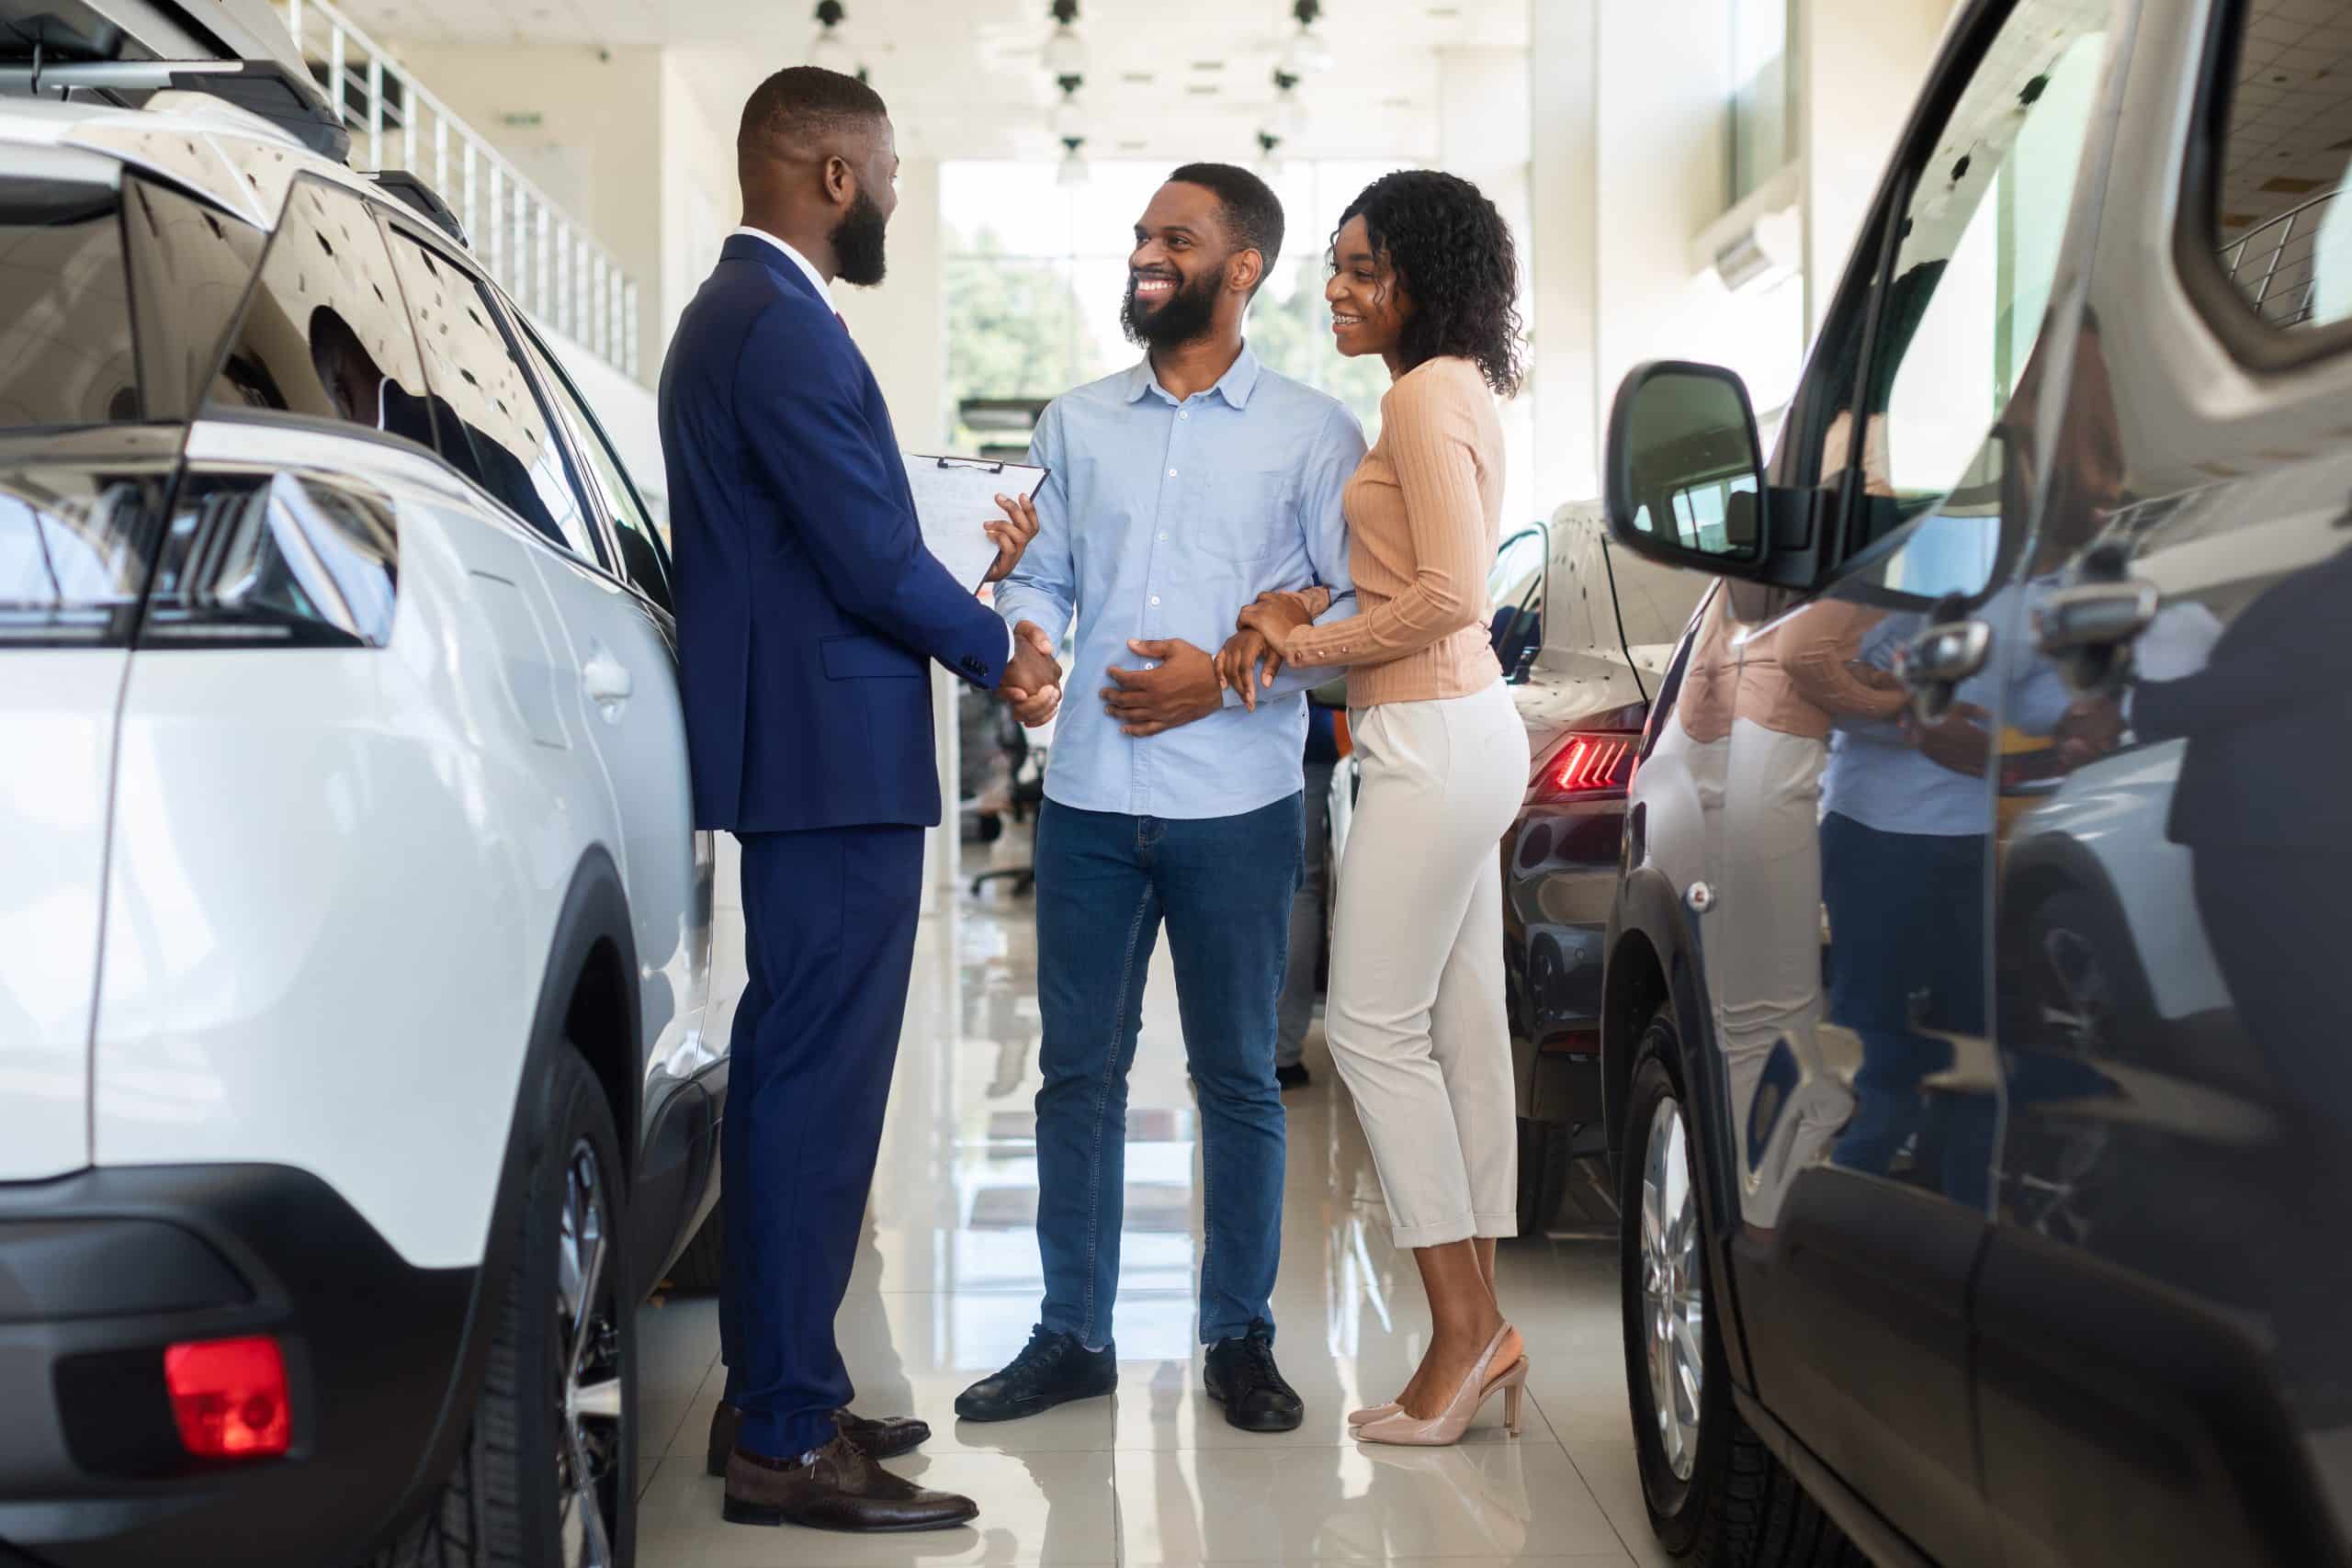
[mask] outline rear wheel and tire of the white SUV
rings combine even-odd
[[[374,1559],[379,1568],[635,1561],[637,1328],[621,1246],[621,1140],[569,1044],[541,1084],[524,1105],[536,1126],[532,1171],[496,1281],[473,1429],[433,1507]]]

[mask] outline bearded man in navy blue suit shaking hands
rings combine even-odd
[[[922,1422],[851,1418],[833,1316],[873,1185],[906,1016],[922,830],[938,823],[929,665],[1023,717],[1058,701],[1042,635],[1009,637],[915,524],[882,390],[826,289],[882,282],[898,155],[882,99],[771,75],[736,139],[743,228],[661,367],[694,820],[743,844],[750,983],[722,1187],[727,1519],[955,1526],[969,1497],[875,1460]],[[1002,578],[1035,534],[988,524]],[[974,527],[981,527],[974,522]]]

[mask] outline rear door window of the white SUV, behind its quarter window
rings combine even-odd
[[[482,284],[400,230],[393,270],[416,317],[442,456],[564,550],[602,562],[586,494]]]

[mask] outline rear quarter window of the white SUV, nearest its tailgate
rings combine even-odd
[[[423,362],[365,200],[294,181],[205,407],[301,414],[433,447]]]

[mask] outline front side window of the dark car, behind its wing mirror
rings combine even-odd
[[[2107,24],[2105,0],[2023,0],[1915,174],[1891,284],[1872,296],[1870,374],[1844,390],[1820,435],[1825,473],[1858,458],[1865,494],[1893,501],[1858,512],[1849,550],[1940,517],[1943,536],[1926,552],[1940,581],[1889,588],[1973,592],[1983,571],[1964,581],[1969,562],[1990,569],[1997,508],[1945,503],[1999,482],[1999,451],[1985,437],[2049,313]],[[1860,440],[1856,404],[1865,411]]]

